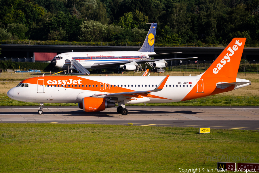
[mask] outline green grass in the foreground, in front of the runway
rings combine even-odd
[[[134,124],[1,123],[0,172],[178,172],[214,169],[212,157],[222,162],[248,157],[253,160],[248,163],[259,163],[258,131],[198,131]]]

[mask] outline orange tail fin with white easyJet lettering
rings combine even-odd
[[[246,38],[234,38],[201,76],[236,78],[245,40]]]

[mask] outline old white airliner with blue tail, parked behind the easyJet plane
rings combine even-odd
[[[155,35],[156,35],[157,23],[151,24],[144,44],[138,51],[110,51],[110,52],[66,52],[58,54],[52,59],[51,64],[59,69],[68,70],[73,66],[73,62],[77,61],[85,69],[93,69],[94,73],[101,73],[101,69],[115,68],[121,73],[124,70],[135,70],[138,65],[147,62],[154,62],[153,66],[156,68],[166,67],[167,63],[172,60],[179,59],[196,59],[192,58],[177,58],[177,59],[155,59],[151,60],[151,57],[182,53],[164,53],[156,54],[154,52]],[[80,71],[79,67],[73,66]],[[82,72],[83,73],[83,72]],[[87,72],[88,73],[88,72]]]

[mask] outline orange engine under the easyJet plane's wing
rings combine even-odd
[[[105,108],[115,107],[115,103],[109,102],[104,98],[85,97],[83,98],[82,107],[85,112],[98,112]]]

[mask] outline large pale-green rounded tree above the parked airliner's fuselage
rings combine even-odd
[[[100,42],[106,35],[107,25],[97,21],[85,21],[80,26],[80,40],[84,42]]]

